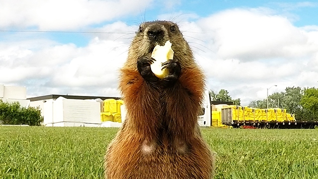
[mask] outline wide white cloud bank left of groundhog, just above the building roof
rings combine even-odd
[[[118,24],[122,31],[130,30],[118,22],[106,28],[116,31]],[[28,95],[119,96],[117,76],[126,60],[128,40],[113,36],[119,34],[94,35],[85,47],[43,39],[0,42],[0,84],[27,85]],[[37,47],[39,42],[42,48]]]

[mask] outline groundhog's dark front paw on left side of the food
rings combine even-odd
[[[140,75],[149,82],[156,82],[159,80],[158,77],[151,71],[150,65],[156,61],[150,56],[144,56],[137,60],[137,69]]]

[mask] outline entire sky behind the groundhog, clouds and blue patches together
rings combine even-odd
[[[0,84],[119,96],[136,26],[174,20],[208,77],[242,104],[318,86],[318,2],[297,0],[0,0]],[[34,30],[54,32],[4,32]],[[56,31],[60,31],[57,33]],[[106,33],[76,33],[106,32]]]

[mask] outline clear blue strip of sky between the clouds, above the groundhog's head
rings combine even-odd
[[[280,1],[267,1],[267,0],[172,0],[173,6],[166,8],[166,4],[159,3],[153,6],[140,9],[134,15],[125,15],[115,18],[110,21],[105,21],[98,24],[91,24],[88,27],[82,27],[74,30],[66,30],[67,32],[75,31],[74,33],[46,33],[47,38],[55,40],[60,43],[74,43],[79,47],[87,45],[89,37],[87,34],[76,33],[80,31],[91,32],[87,28],[100,27],[102,25],[115,22],[117,20],[124,21],[128,25],[136,25],[143,20],[155,20],[159,14],[169,14],[171,17],[184,14],[196,14],[199,17],[206,17],[213,13],[222,10],[233,8],[269,8],[273,13],[283,14],[289,18],[293,18],[292,23],[297,26],[318,25],[318,19],[313,18],[318,15],[318,2],[315,1],[299,1],[299,0],[280,0]],[[154,7],[155,6],[155,7]],[[159,8],[158,8],[159,7]],[[23,30],[17,27],[10,28],[11,30]],[[27,28],[29,30],[37,30],[37,27]],[[27,30],[24,29],[24,30]],[[3,34],[2,34],[3,35]],[[1,35],[1,36],[2,36]],[[2,37],[3,38],[3,37]]]

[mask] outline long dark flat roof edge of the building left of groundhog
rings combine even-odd
[[[49,94],[37,97],[29,97],[30,101],[38,101],[38,100],[46,100],[46,99],[57,99],[58,97],[65,97],[67,99],[97,99],[100,98],[101,100],[105,99],[121,99],[121,97],[111,97],[111,96],[81,96],[81,95],[63,95],[63,94]]]

